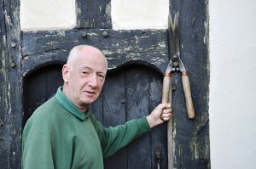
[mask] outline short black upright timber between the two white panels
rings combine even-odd
[[[112,27],[110,0],[77,0],[77,27],[106,29]]]

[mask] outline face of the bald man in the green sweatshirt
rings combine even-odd
[[[74,104],[84,107],[93,103],[102,91],[105,82],[107,63],[104,56],[96,51],[80,51],[68,65],[67,87],[69,99]]]

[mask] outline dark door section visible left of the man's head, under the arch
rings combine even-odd
[[[63,85],[61,69],[62,65],[48,65],[23,79],[23,127],[33,111],[54,96],[57,88]]]

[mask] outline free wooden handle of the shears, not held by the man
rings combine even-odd
[[[187,113],[188,113],[189,119],[194,119],[195,118],[195,110],[194,110],[194,105],[193,105],[193,101],[192,101],[192,97],[191,97],[191,89],[190,89],[188,71],[182,72],[182,82],[183,82],[183,91],[184,91],[185,99],[186,99]]]

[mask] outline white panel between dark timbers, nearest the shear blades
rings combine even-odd
[[[112,0],[114,30],[166,29],[168,0]]]

